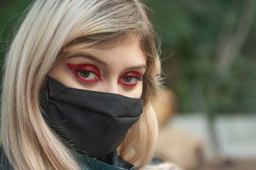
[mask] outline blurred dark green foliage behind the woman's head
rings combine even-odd
[[[246,2],[146,1],[154,11],[150,17],[162,39],[166,86],[177,94],[180,112],[204,111],[214,115],[256,111],[255,22],[242,48],[235,53],[236,58],[230,62],[230,69],[220,71],[218,62],[221,38],[228,38],[236,31]],[[0,2],[1,60],[11,43],[9,32],[17,29],[15,23],[20,12],[29,3],[31,0]]]

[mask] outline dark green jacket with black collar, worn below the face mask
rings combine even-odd
[[[116,152],[110,153],[107,157],[102,157],[100,160],[92,159],[86,155],[78,155],[79,162],[83,170],[135,170],[135,167],[125,162],[122,158],[118,157]],[[111,164],[107,164],[109,162]],[[0,169],[12,170],[8,159],[6,159],[3,148],[0,146]],[[61,169],[60,169],[61,170]]]

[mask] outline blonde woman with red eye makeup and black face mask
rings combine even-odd
[[[38,0],[4,62],[2,169],[140,169],[160,73],[138,0]]]

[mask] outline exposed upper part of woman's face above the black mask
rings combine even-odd
[[[135,39],[110,50],[70,53],[48,75],[67,87],[140,98],[146,61]]]

